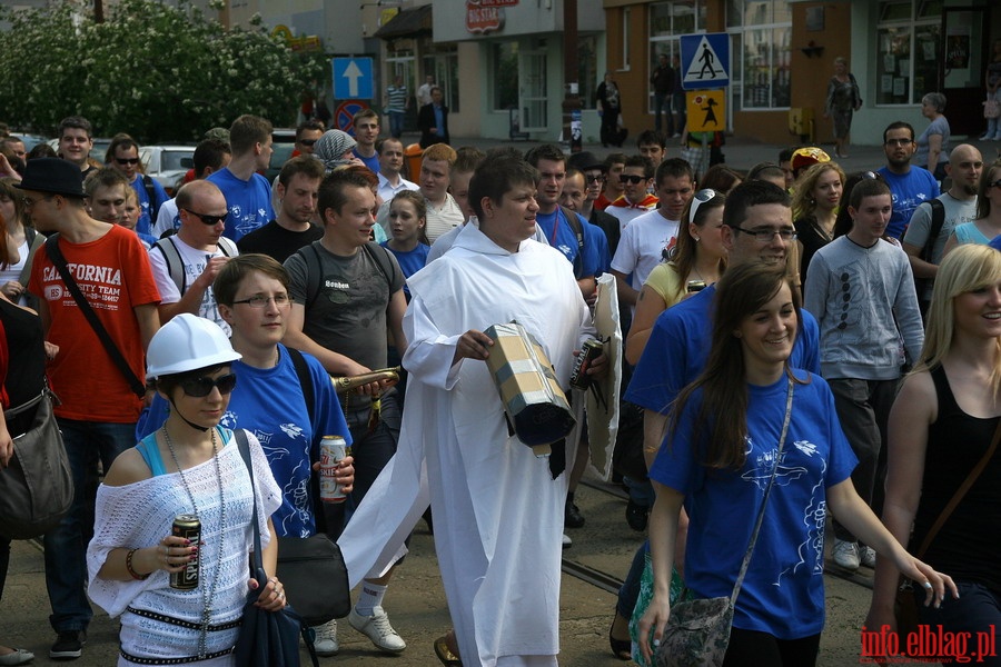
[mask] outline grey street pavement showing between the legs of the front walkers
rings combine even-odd
[[[607,584],[625,577],[633,555],[645,536],[626,525],[626,504],[617,488],[593,480],[577,490],[576,498],[587,522],[584,528],[568,531],[574,544],[564,551],[564,557],[583,565],[584,568],[574,569],[592,573],[599,583],[604,583],[604,587],[575,576],[563,576],[559,664],[565,667],[624,665],[608,650],[608,626],[615,595],[607,590]],[[407,649],[398,656],[380,654],[367,637],[351,629],[344,619],[338,631],[340,655],[320,658],[321,664],[373,667],[438,665],[433,643],[449,627],[449,620],[433,537],[424,521],[414,531],[410,549],[410,556],[396,571],[385,600],[389,618],[407,641]],[[859,628],[869,607],[870,595],[864,584],[871,577],[871,571],[865,568],[859,571],[855,579],[862,585],[836,576],[824,577],[827,620],[819,661],[823,667],[859,663]],[[34,541],[16,541],[12,544],[10,573],[0,605],[0,617],[3,618],[0,644],[33,651],[36,665],[56,664],[48,657],[54,639],[48,624],[49,611],[41,549]],[[117,621],[96,609],[83,657],[73,664],[115,665],[117,631]],[[303,656],[306,657],[305,651]]]

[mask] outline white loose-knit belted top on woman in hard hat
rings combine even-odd
[[[202,587],[219,577],[211,603],[211,625],[225,624],[240,617],[250,580],[249,555],[252,551],[254,532],[250,527],[254,494],[250,477],[240,456],[239,447],[231,441],[232,432],[224,431],[227,444],[219,452],[219,470],[226,499],[226,526],[220,526],[219,489],[216,466],[212,460],[188,468],[185,479],[198,505],[201,519],[201,579],[194,590],[170,588],[170,575],[157,570],[149,578],[137,581],[110,581],[98,577],[108,552],[115,548],[151,547],[170,535],[174,518],[179,514],[194,514],[180,475],[161,475],[121,487],[101,485],[97,494],[95,536],[87,549],[87,568],[90,575],[90,598],[112,617],[121,617],[121,648],[135,656],[150,658],[186,657],[198,655],[200,630],[140,617],[126,607],[145,609],[165,616],[201,624]],[[259,501],[257,512],[261,544],[267,545],[270,534],[267,518],[281,505],[281,489],[275,482],[260,442],[252,434],[250,460]],[[224,534],[225,531],[225,534]],[[224,539],[220,540],[220,535]],[[220,571],[219,545],[225,547]],[[209,588],[205,588],[209,590]],[[239,628],[210,631],[207,653],[224,650],[236,644]],[[120,663],[122,664],[122,663]],[[128,664],[128,663],[123,663]]]

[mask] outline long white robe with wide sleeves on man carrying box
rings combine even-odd
[[[392,563],[429,488],[463,664],[555,665],[567,476],[554,480],[547,459],[508,437],[486,364],[453,366],[452,359],[467,330],[517,320],[545,348],[565,387],[574,349],[593,332],[587,306],[558,251],[529,240],[511,253],[472,225],[408,285],[404,366],[412,379],[399,448],[359,507],[363,517],[356,512],[338,540],[349,571],[355,568],[351,580]],[[367,528],[365,545],[351,531],[356,525]]]

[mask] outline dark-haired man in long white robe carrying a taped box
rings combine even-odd
[[[493,345],[483,330],[517,320],[566,387],[574,350],[594,331],[569,262],[527,240],[538,210],[534,172],[511,153],[488,157],[469,187],[479,228],[467,225],[408,281],[400,445],[417,440],[426,457],[435,547],[466,666],[556,665],[559,649],[567,476],[553,479],[548,459],[508,436],[483,362]]]

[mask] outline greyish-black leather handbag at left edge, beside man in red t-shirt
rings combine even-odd
[[[54,527],[73,502],[73,476],[56,422],[49,389],[3,412],[10,421],[34,409],[31,427],[13,438],[13,456],[0,471],[0,535],[30,539]]]

